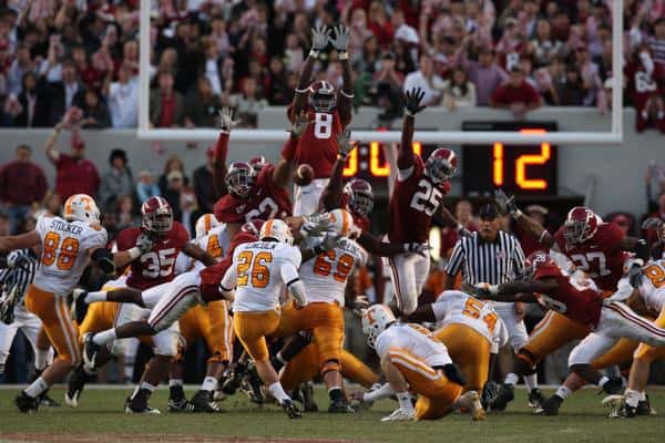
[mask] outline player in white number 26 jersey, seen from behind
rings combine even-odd
[[[296,419],[300,412],[270,364],[266,337],[279,327],[279,301],[285,289],[298,307],[307,305],[305,287],[298,276],[301,255],[291,245],[294,239],[288,225],[279,219],[269,219],[262,226],[259,240],[234,250],[233,264],[219,286],[222,292],[234,300],[233,327],[254,360],[258,375],[288,416]]]

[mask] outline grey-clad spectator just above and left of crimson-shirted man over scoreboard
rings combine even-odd
[[[489,106],[492,93],[507,79],[508,74],[494,61],[494,51],[490,48],[481,48],[478,61],[467,58],[467,51],[460,51],[460,64],[469,74],[469,79],[475,86],[475,104]]]

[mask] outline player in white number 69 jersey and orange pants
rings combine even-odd
[[[347,215],[351,220],[351,216],[348,213]],[[321,240],[323,238],[309,239],[308,245]],[[354,412],[344,394],[340,372],[345,329],[344,305],[349,276],[354,269],[365,266],[366,262],[367,253],[356,241],[346,237],[341,237],[334,248],[316,254],[303,262],[300,280],[305,285],[308,303],[301,309],[297,309],[293,303],[285,306],[279,328],[275,333],[275,337],[282,338],[298,331],[311,331],[318,351],[318,373],[323,375],[330,398],[328,412]],[[288,379],[290,370],[301,369],[287,367],[283,377]]]

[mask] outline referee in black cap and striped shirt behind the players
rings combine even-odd
[[[475,286],[478,284],[500,285],[515,279],[515,275],[524,266],[524,253],[515,236],[501,230],[502,217],[497,207],[487,204],[479,212],[479,230],[468,237],[461,237],[454,248],[448,265],[443,285],[453,289],[457,275],[462,272],[462,282]],[[516,352],[529,338],[523,320],[521,305],[495,302],[494,310],[508,329],[510,343]],[[499,390],[494,409],[505,408],[505,403],[514,398],[514,385],[518,375],[513,372],[505,377]],[[544,401],[538,389],[536,374],[525,375],[524,383],[529,389],[530,404],[540,405]]]

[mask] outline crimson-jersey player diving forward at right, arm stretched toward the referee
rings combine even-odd
[[[610,350],[621,338],[653,347],[665,346],[665,329],[658,328],[620,301],[603,300],[601,290],[583,271],[577,270],[571,275],[545,253],[538,251],[529,256],[522,276],[523,280],[519,281],[489,287],[478,285],[473,292],[488,300],[539,302],[586,329],[589,336],[569,357],[569,370],[589,383],[597,384],[605,391],[608,390],[607,384],[614,383],[610,378],[592,370],[591,362]],[[557,391],[548,402],[556,402],[559,410],[563,400]]]

